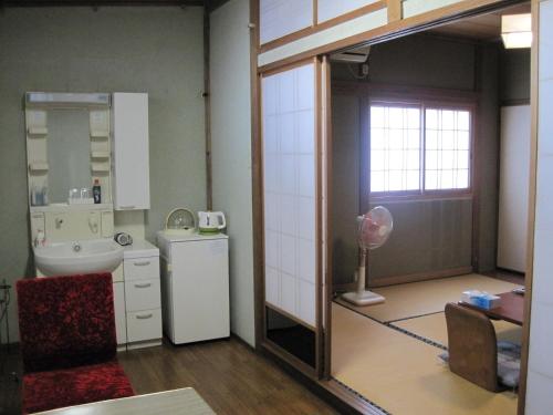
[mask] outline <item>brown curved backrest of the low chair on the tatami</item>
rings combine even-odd
[[[466,307],[446,304],[449,369],[488,391],[498,384],[498,343],[490,319]]]

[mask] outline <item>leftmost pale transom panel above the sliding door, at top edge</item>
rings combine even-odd
[[[313,0],[260,0],[261,44],[313,24]]]

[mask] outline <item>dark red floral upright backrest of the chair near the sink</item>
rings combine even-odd
[[[111,273],[19,280],[25,372],[111,360],[116,353]]]

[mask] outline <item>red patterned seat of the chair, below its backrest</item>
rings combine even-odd
[[[112,361],[103,364],[34,372],[23,376],[23,413],[133,396],[123,367]]]

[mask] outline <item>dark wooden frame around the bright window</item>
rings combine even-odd
[[[371,191],[371,107],[373,105],[417,107],[420,110],[420,170],[419,189],[417,190],[390,190]],[[400,201],[400,200],[425,200],[425,199],[456,199],[471,198],[476,187],[476,163],[474,145],[477,135],[477,100],[467,97],[457,91],[432,91],[431,94],[420,91],[411,93],[380,93],[369,94],[362,100],[362,122],[361,122],[361,185],[362,199],[368,205],[371,203]],[[469,121],[469,186],[462,189],[425,189],[426,185],[426,110],[452,110],[468,111]]]

